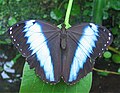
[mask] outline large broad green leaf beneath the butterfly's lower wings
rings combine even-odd
[[[25,64],[20,93],[89,93],[92,84],[92,72],[75,85],[67,85],[62,80],[56,85],[44,83],[34,70]]]

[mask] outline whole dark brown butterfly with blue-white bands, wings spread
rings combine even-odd
[[[94,23],[59,29],[41,20],[27,20],[11,26],[8,33],[30,68],[51,84],[60,78],[67,84],[78,82],[92,71],[92,60],[101,56],[113,39],[108,29]]]

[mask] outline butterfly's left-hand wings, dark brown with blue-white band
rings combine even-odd
[[[60,30],[49,23],[29,20],[15,24],[8,32],[40,78],[57,83],[61,76]]]

